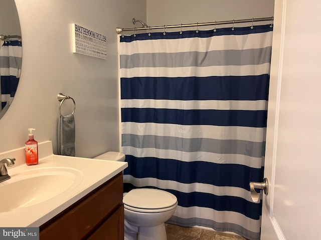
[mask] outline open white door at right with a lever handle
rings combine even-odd
[[[261,239],[321,239],[321,1],[275,0]]]

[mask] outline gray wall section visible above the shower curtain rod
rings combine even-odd
[[[147,0],[151,26],[269,17],[273,12],[274,0]]]

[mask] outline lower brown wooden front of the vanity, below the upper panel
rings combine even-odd
[[[120,206],[88,240],[123,240],[124,239],[124,207]]]

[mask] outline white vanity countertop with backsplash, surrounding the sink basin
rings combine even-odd
[[[35,205],[0,212],[1,227],[40,226],[127,167],[127,162],[48,154],[52,149],[51,144],[51,141],[46,141],[43,145],[39,143],[40,151],[46,149],[47,153],[42,152],[43,157],[39,158],[38,165],[28,166],[22,160],[18,160],[16,155],[21,157],[23,148],[0,153],[1,159],[4,157],[17,159],[15,166],[7,167],[11,179],[0,182],[0,198],[6,197],[1,194],[1,186],[15,181],[26,170],[72,168],[74,172],[78,172],[75,186]]]

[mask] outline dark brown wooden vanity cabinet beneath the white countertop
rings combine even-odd
[[[122,172],[40,226],[40,240],[124,239]]]

